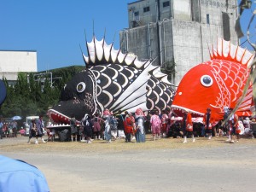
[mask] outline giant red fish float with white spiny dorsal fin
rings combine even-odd
[[[240,101],[249,76],[247,64],[253,54],[246,49],[218,39],[217,49],[210,51],[211,60],[191,68],[178,84],[172,108],[177,113],[189,110],[194,116],[202,116],[212,109],[212,118],[223,119],[224,107],[235,108]],[[252,86],[237,110],[239,115],[250,115]]]

